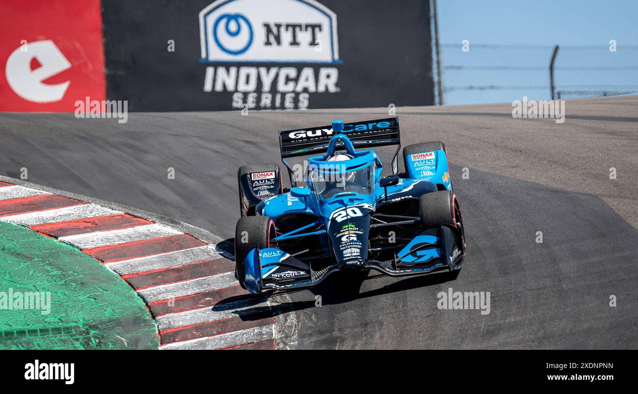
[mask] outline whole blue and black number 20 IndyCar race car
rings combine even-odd
[[[396,145],[392,175],[375,150]],[[466,252],[461,207],[442,142],[401,149],[398,117],[279,131],[277,164],[238,171],[235,276],[251,293],[315,286],[338,271],[390,276],[458,272]],[[286,159],[307,157],[292,166]],[[305,181],[307,186],[298,186]]]

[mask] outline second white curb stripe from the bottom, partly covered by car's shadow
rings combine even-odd
[[[198,325],[209,321],[228,319],[228,317],[232,316],[264,312],[270,309],[269,304],[263,298],[249,298],[243,301],[217,304],[213,307],[170,313],[156,317],[155,321],[158,325],[158,330],[163,331],[169,328]],[[269,326],[271,326],[272,331],[272,324],[269,324]]]

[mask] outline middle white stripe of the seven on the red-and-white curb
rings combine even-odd
[[[154,254],[153,256],[139,257],[135,259],[115,261],[106,266],[119,275],[137,274],[138,272],[172,268],[198,261],[221,258],[215,251],[215,245],[205,245],[184,249],[177,252]]]

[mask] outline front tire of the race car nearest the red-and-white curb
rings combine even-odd
[[[269,216],[245,216],[237,221],[235,227],[235,277],[237,277],[242,289],[246,289],[246,284],[244,284],[244,275],[246,275],[244,259],[246,259],[246,255],[255,246],[259,249],[269,247],[272,238],[276,235],[275,223]]]

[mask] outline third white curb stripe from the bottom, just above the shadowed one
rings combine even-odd
[[[141,295],[146,302],[155,302],[191,294],[204,293],[204,291],[230,288],[231,286],[237,286],[238,284],[239,282],[235,279],[234,272],[225,272],[224,274],[191,279],[190,281],[162,284],[160,286],[139,290],[137,293],[138,295]]]

